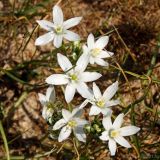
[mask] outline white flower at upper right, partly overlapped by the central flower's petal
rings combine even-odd
[[[98,64],[101,66],[108,66],[108,63],[103,60],[103,58],[111,57],[114,53],[105,51],[104,47],[109,41],[108,36],[103,36],[99,38],[96,42],[93,34],[90,34],[87,39],[87,46],[83,46],[83,53],[90,56],[90,64]]]

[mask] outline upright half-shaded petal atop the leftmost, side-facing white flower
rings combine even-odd
[[[46,98],[47,98],[47,101],[50,101],[50,102],[55,101],[56,93],[55,93],[55,89],[54,89],[53,86],[50,86],[50,87],[47,88]]]

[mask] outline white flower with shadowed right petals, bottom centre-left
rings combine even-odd
[[[79,108],[73,109],[72,112],[66,109],[62,109],[63,118],[57,121],[53,126],[53,130],[58,130],[63,127],[58,137],[59,142],[67,139],[72,131],[79,141],[86,141],[86,134],[83,128],[84,125],[88,124],[88,121],[81,119],[81,115],[82,110],[80,110]]]

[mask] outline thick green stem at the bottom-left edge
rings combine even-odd
[[[6,135],[5,135],[5,132],[4,132],[4,128],[3,128],[3,125],[2,125],[2,121],[0,121],[0,132],[1,132],[1,135],[2,135],[3,142],[4,142],[4,147],[5,147],[5,150],[6,150],[7,160],[10,160],[7,138],[6,138]]]

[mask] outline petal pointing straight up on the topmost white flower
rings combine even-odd
[[[63,24],[63,12],[62,9],[57,5],[53,7],[53,21],[55,25]]]

